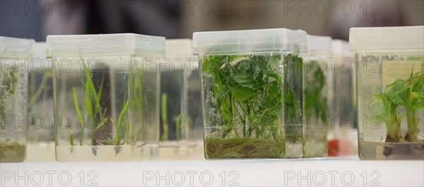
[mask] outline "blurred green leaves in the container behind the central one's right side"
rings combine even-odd
[[[310,61],[304,75],[304,115],[308,120],[312,117],[320,118],[323,123],[326,123],[328,104],[327,98],[322,95],[322,90],[326,85],[324,70],[317,61]]]

